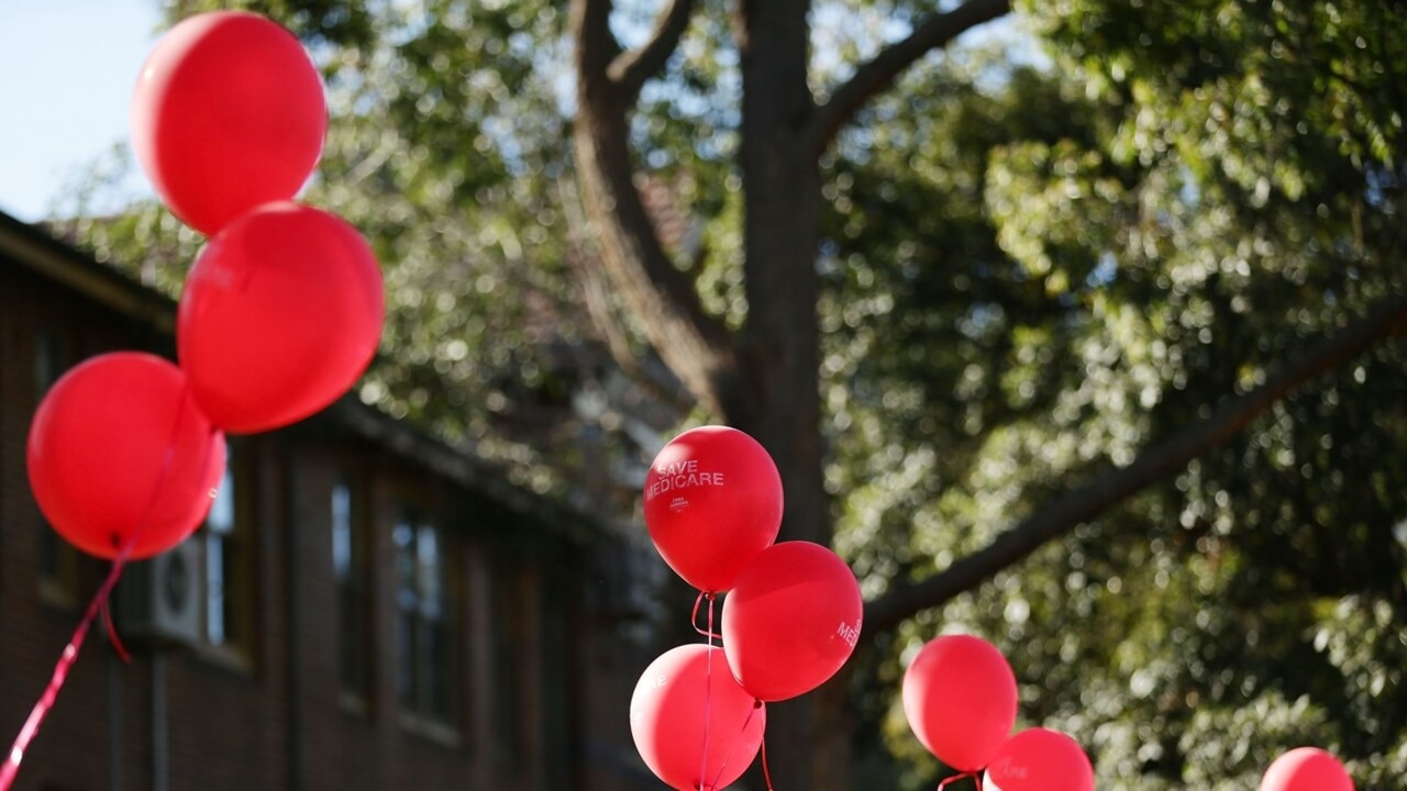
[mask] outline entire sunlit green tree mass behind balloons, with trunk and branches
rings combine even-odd
[[[386,266],[362,398],[622,522],[682,422],[758,434],[871,602],[864,787],[936,781],[943,629],[1102,783],[1407,770],[1399,3],[250,7]],[[167,284],[198,243],[76,222]]]

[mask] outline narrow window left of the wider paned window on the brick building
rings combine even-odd
[[[364,709],[371,687],[370,564],[366,519],[348,481],[332,487],[332,573],[338,597],[338,676],[342,701]]]

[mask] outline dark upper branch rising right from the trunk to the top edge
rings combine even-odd
[[[806,151],[816,156],[836,138],[840,127],[875,94],[934,49],[947,46],[958,35],[1012,11],[1010,0],[968,0],[962,6],[924,20],[909,34],[862,63],[830,99],[816,108],[803,135]]]

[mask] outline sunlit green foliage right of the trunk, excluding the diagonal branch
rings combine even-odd
[[[998,281],[1033,284],[1045,308],[1010,296],[967,300],[975,315],[909,305],[877,311],[860,332],[898,336],[889,348],[912,357],[881,357],[898,367],[867,415],[867,466],[836,473],[864,493],[848,500],[840,540],[878,571],[875,590],[947,567],[1052,494],[1133,463],[1401,293],[1401,104],[1384,75],[1401,75],[1407,51],[1400,31],[1370,23],[1387,7],[1023,11],[1052,68],[1006,79],[1005,101],[988,104],[999,114],[968,134],[1010,137],[982,145],[975,170],[954,177],[960,158],[896,124],[896,94],[893,117],[855,135],[867,167],[888,162],[841,182],[885,190],[902,173],[905,184],[860,200],[850,190],[850,204],[872,208],[837,213],[847,265],[874,256],[871,269],[893,272],[929,239],[927,260],[941,266],[910,269],[933,273],[934,289],[976,293],[951,260],[983,252],[944,227],[951,210],[924,207],[978,205],[972,222],[991,232],[976,238],[1013,267]],[[964,139],[938,129],[936,141]],[[924,177],[920,146],[948,167]],[[864,221],[884,213],[902,220]],[[913,336],[884,327],[896,319],[947,342],[903,342]],[[974,348],[974,329],[992,324],[995,353]],[[896,680],[940,625],[978,629],[1013,657],[1026,716],[1082,735],[1120,787],[1245,788],[1300,743],[1355,759],[1363,787],[1392,787],[1407,646],[1407,535],[1389,494],[1401,473],[1401,365],[1390,343],[1316,379],[1166,484],[902,626],[875,673]],[[941,372],[937,396],[922,390],[930,372]],[[912,397],[896,394],[903,386]],[[915,431],[924,425],[951,432],[941,452],[926,442],[931,428]],[[871,711],[888,718],[896,750],[917,756],[892,698]]]

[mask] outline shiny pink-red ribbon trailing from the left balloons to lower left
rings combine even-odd
[[[127,566],[128,556],[132,555],[132,548],[136,546],[136,539],[141,536],[142,529],[146,528],[152,512],[156,510],[156,500],[160,495],[162,486],[166,483],[166,476],[170,473],[172,463],[176,457],[176,429],[180,426],[180,419],[186,411],[186,401],[189,400],[190,383],[186,381],[182,387],[180,405],[176,410],[176,419],[172,424],[172,441],[166,443],[166,453],[162,456],[162,464],[156,473],[156,484],[152,487],[152,497],[146,502],[146,511],[132,528],[132,533],[127,536],[127,540],[124,540],[121,548],[118,548],[117,556],[113,557],[113,567],[108,570],[103,584],[98,586],[97,593],[93,594],[93,600],[89,601],[87,608],[83,611],[83,618],[79,619],[79,625],[75,626],[68,645],[63,646],[63,653],[59,654],[59,660],[53,664],[53,676],[49,677],[49,684],[44,688],[44,694],[39,695],[39,701],[34,704],[34,709],[30,711],[30,716],[24,721],[24,726],[20,728],[18,736],[15,736],[14,742],[10,745],[10,752],[4,756],[4,764],[0,764],[0,791],[10,791],[10,787],[14,784],[14,778],[20,773],[20,761],[24,760],[24,753],[30,749],[30,743],[34,742],[34,738],[39,733],[39,726],[44,725],[44,719],[49,715],[49,709],[53,708],[53,702],[59,697],[59,690],[63,688],[63,683],[69,678],[69,670],[79,659],[79,650],[83,647],[83,639],[87,638],[89,626],[98,616],[100,611],[103,612],[104,622],[111,621],[111,616],[107,612],[108,595],[113,593],[113,587],[117,586],[118,577],[122,576],[122,569]],[[211,429],[210,436],[215,436],[214,428]],[[201,473],[197,480],[205,479],[205,470],[210,464],[208,445],[204,456]],[[117,632],[114,629],[108,629],[108,635],[114,636],[113,645],[120,649],[118,654],[125,659],[127,649],[121,647],[121,642],[115,639]]]

